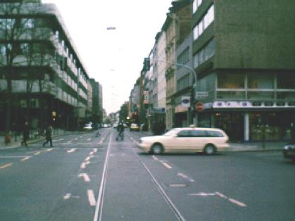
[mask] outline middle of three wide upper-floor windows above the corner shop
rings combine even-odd
[[[248,75],[249,89],[273,89],[274,76],[268,74],[251,73]]]

